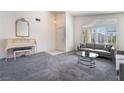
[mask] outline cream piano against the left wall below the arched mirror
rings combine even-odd
[[[32,54],[37,51],[36,40],[32,38],[13,38],[6,40],[6,61],[8,58],[14,57],[15,50],[31,49]]]

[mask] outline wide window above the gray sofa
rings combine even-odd
[[[96,26],[83,31],[84,43],[116,45],[116,25]]]

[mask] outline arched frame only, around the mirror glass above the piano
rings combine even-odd
[[[28,36],[18,35],[17,24],[18,24],[19,21],[26,22],[28,24]],[[25,20],[24,18],[17,19],[16,22],[15,22],[15,33],[16,33],[16,37],[30,37],[30,25],[29,25],[29,22],[27,20]]]

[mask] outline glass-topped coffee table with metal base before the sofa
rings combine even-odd
[[[97,53],[78,51],[76,54],[78,56],[78,64],[83,64],[90,68],[96,66],[96,58],[99,56]]]

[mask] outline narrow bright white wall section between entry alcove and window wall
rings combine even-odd
[[[66,52],[74,50],[73,16],[66,13]]]

